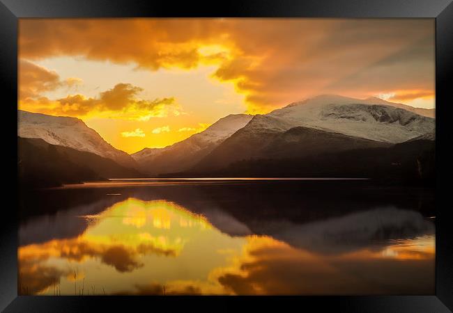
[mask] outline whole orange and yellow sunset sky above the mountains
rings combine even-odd
[[[321,94],[434,108],[434,19],[20,19],[18,108],[165,147]]]

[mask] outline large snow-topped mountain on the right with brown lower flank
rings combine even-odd
[[[325,154],[385,148],[414,138],[434,137],[433,118],[374,102],[321,95],[266,115],[255,115],[189,172],[206,174],[237,162],[243,162],[243,169],[245,164],[254,168],[252,163],[256,160],[302,161],[319,157],[319,163]],[[275,167],[277,164],[272,164],[264,172],[277,175],[279,170]],[[323,168],[320,165],[320,170]]]

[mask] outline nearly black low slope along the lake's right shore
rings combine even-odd
[[[241,159],[224,166],[198,164],[172,177],[362,177],[384,184],[433,186],[435,142],[406,141],[390,147],[368,147],[293,157]]]

